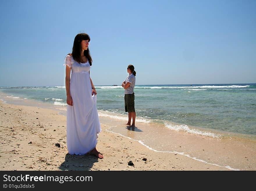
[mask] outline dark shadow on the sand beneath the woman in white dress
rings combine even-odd
[[[58,168],[61,170],[91,170],[93,164],[97,163],[98,160],[101,159],[89,153],[85,155],[70,155],[67,153],[65,161]]]

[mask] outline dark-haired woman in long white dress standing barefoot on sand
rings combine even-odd
[[[96,149],[101,127],[96,107],[97,92],[90,78],[92,58],[88,49],[89,42],[88,34],[78,34],[74,39],[72,54],[65,57],[67,149],[70,154],[83,155],[90,152],[103,158]]]

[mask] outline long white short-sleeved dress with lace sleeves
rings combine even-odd
[[[101,131],[96,107],[97,97],[92,96],[90,63],[77,63],[67,55],[65,65],[71,67],[70,94],[73,106],[67,105],[67,149],[70,154],[83,155],[96,147]]]

